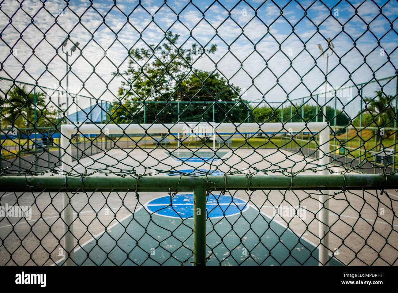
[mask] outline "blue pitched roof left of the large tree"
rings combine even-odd
[[[69,114],[68,118],[73,123],[101,123],[107,119],[107,113],[104,110],[109,110],[109,106],[111,102],[98,102],[98,104],[78,110],[77,113]]]

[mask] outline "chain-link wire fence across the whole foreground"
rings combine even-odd
[[[396,1],[0,14],[1,265],[397,264]]]

